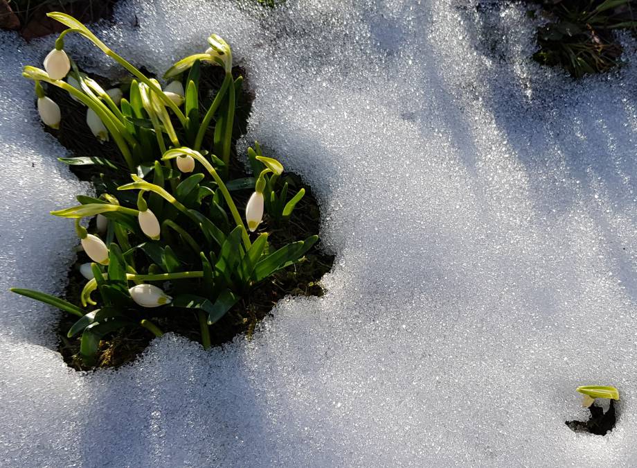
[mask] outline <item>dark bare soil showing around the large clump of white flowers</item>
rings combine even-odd
[[[244,71],[238,67],[233,70],[235,76],[245,76]],[[108,83],[105,78],[92,76],[98,81],[102,87],[108,89],[115,85],[125,83]],[[223,80],[223,71],[219,67],[202,67],[200,96],[206,101],[204,105],[209,105],[211,90],[218,89]],[[246,89],[244,82],[244,89]],[[62,110],[62,122],[60,130],[52,130],[46,127],[45,130],[55,136],[60,143],[65,146],[72,156],[102,156],[107,157],[111,161],[119,158],[118,149],[112,143],[99,144],[95,137],[91,134],[86,121],[86,107],[73,101],[66,92],[60,89],[49,87],[47,93],[55,102],[60,105]],[[242,135],[246,130],[246,121],[251,111],[251,102],[253,95],[249,90],[242,92],[237,100],[236,123],[233,137]],[[210,141],[212,135],[206,137]],[[240,159],[241,158],[241,159]],[[229,179],[248,177],[251,174],[246,173],[243,159],[244,155],[237,156],[233,154]],[[95,177],[95,169],[93,166],[70,166],[73,171],[82,180],[91,180],[97,182]],[[125,181],[127,182],[127,181]],[[125,183],[122,182],[122,183]],[[281,247],[289,242],[305,239],[308,236],[319,233],[321,211],[312,190],[303,180],[294,173],[285,172],[282,175],[281,183],[289,183],[289,193],[294,194],[302,187],[305,188],[305,197],[301,200],[294,210],[291,218],[287,223],[279,226],[272,226],[267,216],[264,218],[262,227],[264,231],[271,234],[269,241],[274,249]],[[237,203],[237,207],[244,207],[251,196],[252,190],[235,191],[233,198]],[[90,228],[89,228],[90,230]],[[80,292],[86,279],[80,275],[79,266],[88,262],[89,259],[80,252],[75,264],[69,270],[69,286],[66,288],[65,299],[73,304],[80,304]],[[247,295],[243,297],[237,305],[228,312],[222,320],[210,326],[210,340],[213,346],[228,343],[235,336],[246,333],[250,337],[255,329],[255,325],[259,320],[269,315],[273,306],[286,295],[305,295],[305,296],[321,296],[323,289],[318,281],[323,275],[330,271],[334,263],[334,256],[323,254],[319,247],[315,245],[307,254],[305,259],[290,266],[285,270],[277,272],[275,275],[263,281]],[[193,291],[193,293],[197,293]],[[163,310],[162,310],[163,309]],[[197,313],[180,309],[179,313],[175,313],[174,309],[159,308],[147,309],[152,310],[152,321],[164,331],[172,331],[178,333],[191,340],[201,342],[199,322]],[[150,316],[140,317],[150,318]],[[60,324],[57,327],[57,333],[60,336],[59,351],[64,356],[64,361],[76,370],[87,370],[91,367],[84,365],[80,359],[80,337],[66,338],[66,332],[77,318],[70,314],[63,314]],[[130,361],[134,361],[147,347],[150,340],[154,336],[150,331],[141,328],[120,329],[113,336],[107,337],[100,343],[100,357],[97,367],[118,367]]]

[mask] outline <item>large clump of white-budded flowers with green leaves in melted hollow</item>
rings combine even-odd
[[[78,196],[80,205],[51,214],[74,221],[75,234],[91,263],[80,268],[87,279],[81,304],[24,288],[12,291],[77,315],[69,338],[81,333],[80,356],[96,363],[99,343],[123,327],[143,327],[161,336],[156,311],[196,311],[201,343],[210,347],[209,327],[242,297],[282,268],[303,259],[318,236],[271,248],[264,214],[285,223],[305,190],[288,194],[280,183],[283,166],[258,144],[249,148],[253,177],[228,180],[237,91],[232,52],[219,36],[209,47],[175,63],[163,78],[148,78],[109,49],[77,19],[48,16],[68,27],[46,56],[44,70],[24,67],[35,82],[42,121],[58,128],[60,107],[42,86],[59,87],[87,108],[87,128],[98,141],[112,139],[118,157],[62,158],[67,164],[105,171],[96,197]],[[78,33],[113,58],[134,80],[127,89],[102,89],[80,72],[64,51],[64,37]],[[201,109],[201,63],[222,67],[224,81],[210,107]],[[212,141],[206,130],[214,127]],[[210,139],[210,138],[208,138]],[[127,179],[127,180],[126,180]],[[115,182],[114,182],[115,181]],[[232,192],[253,187],[245,206]],[[93,232],[82,219],[97,216]]]

